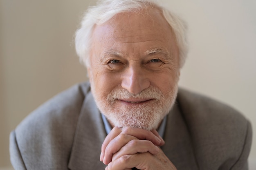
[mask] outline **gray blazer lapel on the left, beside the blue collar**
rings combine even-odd
[[[68,168],[71,170],[103,170],[106,166],[99,161],[99,157],[106,132],[92,93],[88,92],[85,97]]]

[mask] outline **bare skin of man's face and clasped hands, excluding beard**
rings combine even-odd
[[[121,13],[95,26],[90,56],[88,73],[96,98],[106,97],[117,87],[137,94],[154,86],[166,94],[177,86],[178,48],[171,27],[156,8]],[[131,98],[117,100],[115,105],[129,108],[141,103],[150,104],[145,99]],[[163,144],[155,129],[114,127],[103,142],[100,160],[108,165],[106,170],[175,170],[159,148]]]

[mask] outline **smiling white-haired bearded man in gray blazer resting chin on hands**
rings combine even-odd
[[[249,122],[177,87],[185,31],[150,0],[91,7],[75,40],[90,84],[57,95],[11,133],[14,168],[246,170]]]

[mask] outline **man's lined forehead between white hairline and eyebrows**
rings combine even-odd
[[[139,12],[119,13],[105,24],[95,26],[92,46],[95,45],[104,50],[113,49],[115,46],[129,46],[133,49],[152,46],[168,51],[174,48],[176,43],[171,26],[162,12],[151,8]]]

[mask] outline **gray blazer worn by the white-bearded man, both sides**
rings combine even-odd
[[[11,163],[16,170],[103,170],[105,137],[85,82],[50,99],[11,132]],[[252,128],[236,110],[179,89],[164,140],[177,170],[246,170]]]

